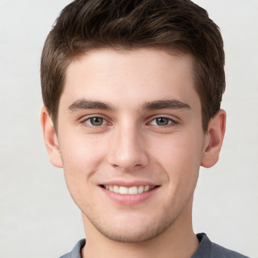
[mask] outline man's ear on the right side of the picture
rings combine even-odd
[[[209,168],[214,166],[218,159],[226,130],[226,112],[220,109],[209,123],[204,140],[204,151],[201,166]]]

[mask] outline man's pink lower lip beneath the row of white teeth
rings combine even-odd
[[[113,191],[109,191],[101,186],[99,186],[102,192],[112,201],[115,201],[122,205],[137,205],[140,204],[147,199],[149,199],[159,187],[155,187],[149,191],[145,191],[142,193],[137,193],[137,195],[121,195],[121,193],[116,193]]]

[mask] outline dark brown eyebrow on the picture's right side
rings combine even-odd
[[[154,110],[154,109],[191,109],[187,103],[180,100],[157,100],[152,102],[145,102],[142,105],[143,110]]]

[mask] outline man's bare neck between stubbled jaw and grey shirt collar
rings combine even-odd
[[[161,235],[141,243],[123,243],[111,240],[91,224],[83,215],[86,245],[83,258],[143,257],[143,258],[190,258],[199,246],[199,240],[192,230],[191,205]],[[189,211],[190,209],[190,211]],[[189,215],[190,214],[190,215]]]

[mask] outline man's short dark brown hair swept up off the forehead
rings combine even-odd
[[[193,56],[203,129],[225,90],[223,40],[203,8],[189,0],[75,0],[62,10],[41,57],[43,102],[54,125],[66,70],[89,49],[177,49]]]

